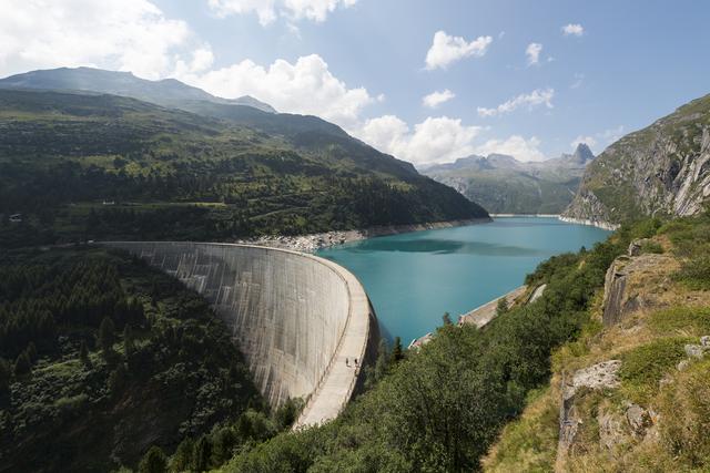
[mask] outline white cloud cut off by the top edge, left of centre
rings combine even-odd
[[[357,0],[207,0],[210,9],[219,17],[255,13],[262,25],[272,23],[280,16],[322,22],[336,8],[355,3]]]

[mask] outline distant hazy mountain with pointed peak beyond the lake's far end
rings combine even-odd
[[[535,163],[490,154],[423,169],[496,214],[559,214],[571,202],[585,167],[595,158],[586,144],[574,154]]]

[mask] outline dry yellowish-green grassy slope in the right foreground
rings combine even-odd
[[[710,366],[707,359],[688,357],[684,347],[710,335],[710,294],[704,289],[710,279],[688,273],[706,255],[709,229],[706,213],[666,223],[638,222],[617,233],[617,238],[626,235],[626,240],[652,238],[648,246],[660,251],[642,248],[641,253],[665,255],[653,269],[661,284],[632,290],[641,297],[656,296],[648,300],[666,307],[636,309],[619,326],[602,328],[600,292],[580,337],[554,351],[550,385],[505,428],[485,460],[486,471],[708,470]],[[538,273],[551,273],[551,263],[541,265]],[[568,457],[556,463],[562,372],[610,359],[621,360],[620,385],[576,394],[575,415],[582,423]],[[645,410],[641,429],[646,433],[627,421],[630,405]]]

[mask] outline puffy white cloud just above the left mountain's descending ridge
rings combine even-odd
[[[384,100],[382,95],[373,97],[364,88],[348,88],[317,54],[301,56],[294,63],[278,59],[268,66],[244,60],[178,79],[214,95],[252,95],[280,112],[318,115],[345,128],[357,125],[363,107]]]

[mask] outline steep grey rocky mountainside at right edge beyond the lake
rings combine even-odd
[[[710,95],[613,143],[588,166],[565,217],[620,224],[698,214],[710,196]]]

